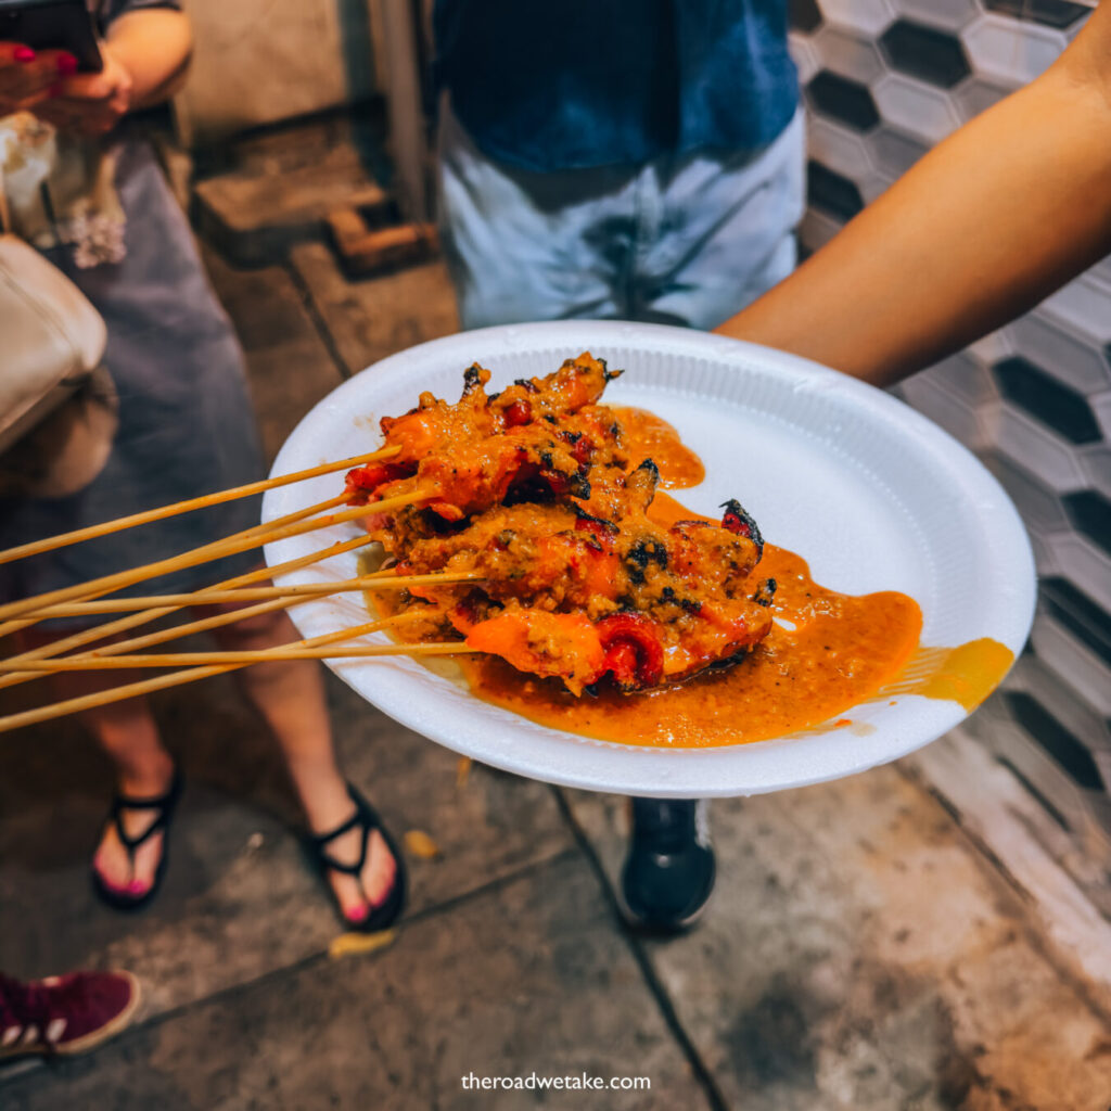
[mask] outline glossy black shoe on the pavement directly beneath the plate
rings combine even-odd
[[[633,799],[629,857],[619,899],[629,925],[677,933],[691,925],[713,891],[704,799]]]

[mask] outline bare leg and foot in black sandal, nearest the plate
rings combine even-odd
[[[298,639],[289,615],[281,610],[214,629],[213,635],[226,651],[256,651]],[[347,821],[354,804],[337,761],[319,664],[312,660],[257,663],[236,675],[278,741],[312,832],[324,833]],[[351,864],[359,859],[360,849],[358,828],[328,845],[331,857]],[[329,871],[328,878],[344,917],[359,923],[371,907],[387,899],[396,872],[393,857],[376,830],[359,878],[336,871]]]

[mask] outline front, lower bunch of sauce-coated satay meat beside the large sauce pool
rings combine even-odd
[[[580,499],[522,503],[394,550],[406,573],[481,574],[478,589],[424,597],[450,605],[467,591],[449,611],[454,627],[520,670],[559,675],[575,693],[605,674],[630,691],[688,679],[767,634],[765,604],[747,594],[760,538],[735,503],[720,527],[662,528],[647,516],[657,481],[648,461],[599,483],[589,504],[610,519]]]

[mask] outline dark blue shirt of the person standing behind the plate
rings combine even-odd
[[[452,110],[521,169],[757,150],[799,100],[787,0],[437,0],[434,24]]]

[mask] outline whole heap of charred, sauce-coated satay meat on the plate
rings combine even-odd
[[[720,524],[649,516],[659,471],[630,471],[598,404],[610,374],[589,354],[488,397],[474,366],[456,404],[422,394],[382,421],[390,462],[352,471],[352,500],[428,499],[368,528],[406,573],[468,571],[480,584],[413,593],[422,624],[575,694],[688,679],[764,637],[774,584],[750,585],[762,542],[737,502]]]

